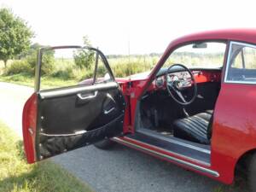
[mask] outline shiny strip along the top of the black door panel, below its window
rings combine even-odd
[[[109,82],[106,84],[94,84],[91,86],[76,86],[76,87],[67,87],[61,90],[45,90],[39,92],[39,96],[41,99],[48,99],[55,96],[67,96],[73,95],[75,93],[80,93],[84,91],[96,91],[96,90],[104,90],[104,89],[111,89],[111,88],[118,88],[118,84],[116,82]]]

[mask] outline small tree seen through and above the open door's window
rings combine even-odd
[[[84,46],[91,46],[90,40],[87,36],[83,37]],[[90,69],[94,61],[95,51],[88,49],[78,49],[73,52],[74,62],[79,68]]]

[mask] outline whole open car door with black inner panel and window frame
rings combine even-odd
[[[69,54],[68,62],[73,59],[73,67],[93,61],[90,70],[94,69],[91,70],[94,74],[78,84],[44,90],[43,83],[47,76],[42,78],[41,74],[44,65],[49,62],[45,55],[56,55],[60,65],[64,60],[57,54],[59,50]],[[86,72],[86,67],[84,69]],[[105,74],[102,73],[104,69]],[[40,49],[35,92],[25,104],[22,119],[28,163],[121,135],[124,112],[125,97],[100,50],[79,46]]]

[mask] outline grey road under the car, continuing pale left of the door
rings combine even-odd
[[[22,108],[31,94],[26,86],[0,82],[0,119],[20,136]],[[89,146],[52,160],[97,192],[244,191],[120,145],[108,151]]]

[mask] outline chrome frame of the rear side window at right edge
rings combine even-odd
[[[231,56],[231,50],[232,50],[231,48],[232,48],[233,44],[244,45],[246,47],[256,49],[256,45],[253,45],[253,44],[246,44],[246,43],[241,43],[241,42],[236,42],[236,41],[230,41],[228,59],[227,59],[227,62],[226,62],[226,67],[225,67],[224,83],[228,83],[228,84],[256,84],[256,81],[241,81],[241,80],[240,81],[234,81],[234,80],[228,80],[227,79],[228,71],[230,69],[230,56]]]

